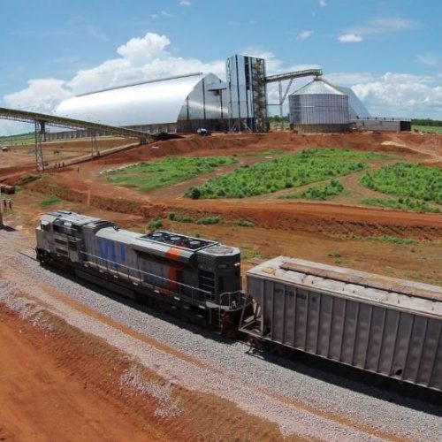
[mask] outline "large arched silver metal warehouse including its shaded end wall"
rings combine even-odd
[[[179,119],[227,118],[222,97],[210,85],[214,74],[197,74],[171,80],[116,88],[72,97],[60,103],[57,115],[110,126],[176,124]]]

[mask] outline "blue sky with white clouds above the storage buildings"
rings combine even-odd
[[[0,0],[0,106],[53,113],[100,88],[225,78],[240,53],[268,73],[320,66],[373,116],[442,119],[441,17],[438,0]]]

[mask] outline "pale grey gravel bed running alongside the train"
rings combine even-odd
[[[318,373],[314,367],[306,369],[298,362],[271,363],[261,355],[248,353],[248,346],[241,342],[221,339],[170,317],[166,320],[149,310],[135,309],[130,302],[121,303],[44,270],[27,257],[15,255],[17,247],[3,237],[0,248],[5,250],[0,261],[9,266],[8,280],[13,281],[0,284],[0,299],[9,299],[17,292],[31,293],[50,304],[70,324],[106,339],[165,379],[232,400],[249,413],[278,423],[285,435],[295,433],[339,441],[372,440],[379,436],[362,428],[367,427],[400,438],[442,439],[442,407],[394,393],[383,394],[375,387],[345,382],[333,374],[324,380],[324,373]],[[14,257],[11,260],[7,255]],[[202,361],[207,367],[202,369],[85,316],[51,298],[43,286],[35,286],[35,281],[42,281],[118,323]],[[164,387],[156,390],[156,385],[143,385],[136,372],[125,374],[122,382],[132,383],[133,388],[156,397],[159,410],[179,413],[179,404],[171,401]],[[279,400],[278,395],[287,400]],[[161,398],[165,398],[164,402]]]

